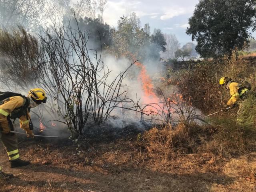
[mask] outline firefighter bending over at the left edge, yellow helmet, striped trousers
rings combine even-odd
[[[46,103],[46,100],[46,94],[40,88],[30,90],[27,97],[18,93],[0,92],[0,140],[6,148],[11,168],[26,166],[30,163],[20,159],[17,136],[14,133],[10,133],[10,130],[13,130],[11,119],[19,118],[20,128],[33,137],[33,124],[29,114],[30,108]],[[0,167],[1,176],[8,176],[8,174],[4,174]]]

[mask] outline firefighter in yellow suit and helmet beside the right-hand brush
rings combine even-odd
[[[220,84],[224,85],[226,89],[230,90],[230,99],[228,100],[227,105],[233,107],[239,100],[239,98],[245,98],[246,94],[248,93],[248,89],[242,86],[241,84],[232,81],[231,78],[222,77],[220,78]],[[242,104],[239,106],[239,110]]]

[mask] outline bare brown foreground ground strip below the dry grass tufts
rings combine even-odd
[[[136,145],[136,134],[113,140],[20,138],[23,160],[10,168],[0,144],[0,165],[14,178],[0,180],[1,192],[254,192],[256,152],[220,158],[180,154],[152,159]],[[79,144],[79,146],[78,146]]]

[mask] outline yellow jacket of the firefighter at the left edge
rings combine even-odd
[[[6,134],[10,132],[7,116],[8,115],[11,116],[12,112],[17,108],[22,107],[23,104],[24,104],[24,98],[22,98],[21,96],[13,96],[5,99],[3,101],[3,104],[0,105],[0,127],[2,129],[2,133]],[[24,129],[26,133],[32,134],[32,131],[29,129],[30,115],[29,115],[28,109],[26,109],[26,114],[27,115],[22,115],[19,117],[20,128]]]

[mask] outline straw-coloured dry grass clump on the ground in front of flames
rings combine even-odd
[[[177,154],[195,152],[199,142],[197,133],[202,129],[194,123],[154,127],[142,135],[139,145],[146,149],[149,156],[169,160]]]

